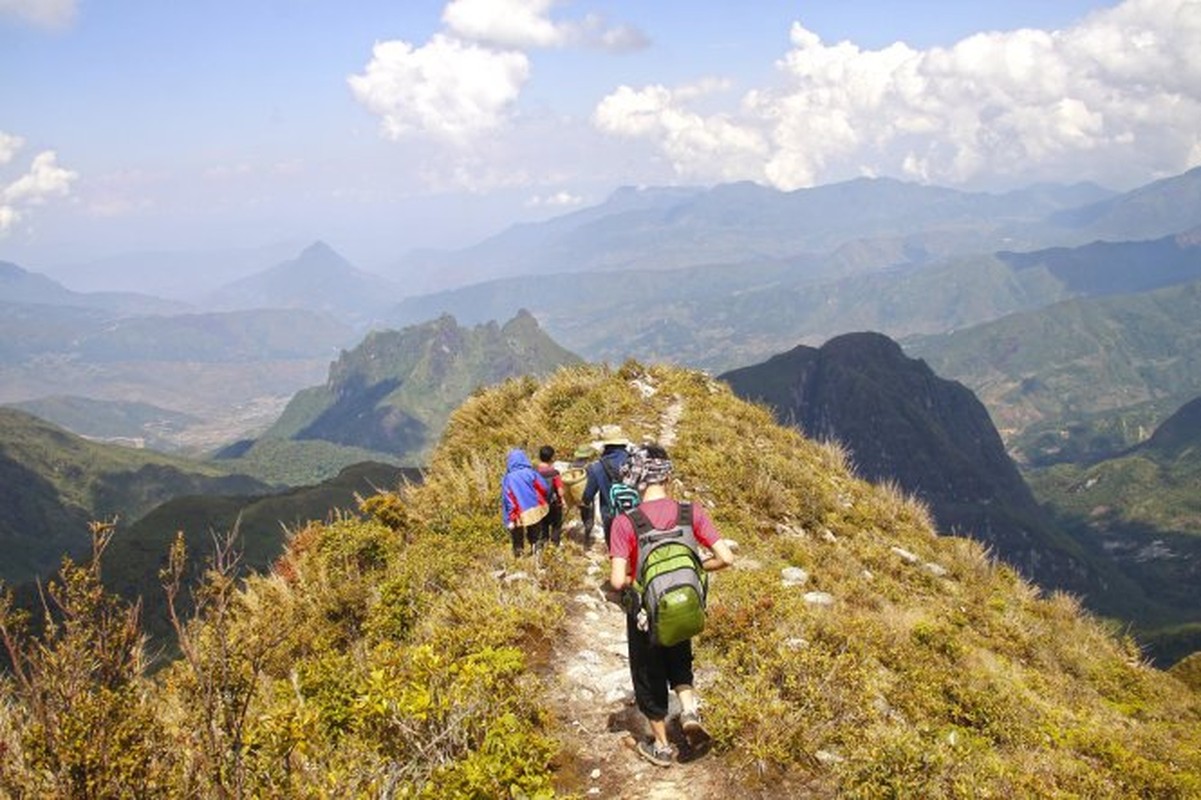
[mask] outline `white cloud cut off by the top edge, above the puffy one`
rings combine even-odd
[[[556,22],[550,18],[557,0],[450,0],[442,22],[465,40],[504,48],[591,46],[609,50],[645,47],[646,38],[634,28],[610,28],[603,17]]]

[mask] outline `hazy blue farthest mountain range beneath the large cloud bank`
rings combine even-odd
[[[903,239],[908,261],[980,252],[1002,241],[1045,241],[1027,228],[1106,198],[1082,184],[1006,195],[860,178],[781,192],[751,183],[712,189],[633,189],[596,208],[515,226],[454,252],[424,251],[388,274],[418,288],[543,273],[658,270],[830,252],[856,240]]]

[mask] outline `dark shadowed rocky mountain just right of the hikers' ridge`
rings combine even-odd
[[[842,442],[861,477],[920,497],[942,532],[991,544],[1042,586],[1106,589],[1038,506],[984,405],[888,336],[847,334],[721,378],[811,438]]]

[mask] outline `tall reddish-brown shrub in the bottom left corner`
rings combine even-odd
[[[168,753],[144,680],[141,603],[104,591],[101,560],[115,523],[92,523],[91,560],[64,559],[41,591],[44,627],[0,597],[11,664],[0,790],[13,796],[147,798],[165,793]]]

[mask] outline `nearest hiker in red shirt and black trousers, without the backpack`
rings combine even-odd
[[[617,515],[613,523],[609,583],[614,590],[622,592],[622,605],[627,611],[626,634],[634,702],[651,723],[651,732],[655,734],[652,741],[638,742],[638,754],[658,766],[670,766],[673,751],[667,732],[669,687],[680,699],[680,726],[688,741],[695,746],[697,742],[707,740],[709,734],[700,722],[697,693],[692,686],[692,639],[662,646],[653,641],[649,629],[644,629],[646,616],[639,614],[643,598],[634,589],[639,538],[631,514],[641,512],[655,531],[669,531],[676,526],[681,509],[691,506],[693,536],[697,543],[712,551],[700,567],[706,573],[724,569],[734,563],[734,553],[704,506],[679,503],[668,494],[671,460],[661,446],[647,444],[635,450],[629,456],[622,479],[638,488],[641,502],[635,509]]]

